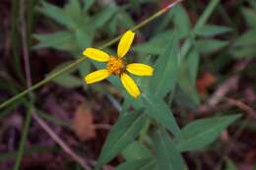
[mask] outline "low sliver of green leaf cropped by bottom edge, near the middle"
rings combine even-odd
[[[157,160],[154,158],[144,158],[126,161],[117,166],[115,170],[158,170]]]

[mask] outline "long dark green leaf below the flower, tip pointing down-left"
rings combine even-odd
[[[141,111],[121,116],[109,132],[96,162],[96,170],[114,158],[140,134],[147,117]]]

